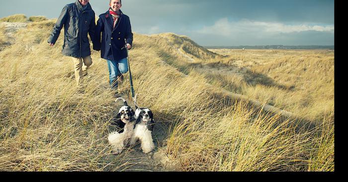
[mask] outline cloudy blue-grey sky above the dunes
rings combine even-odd
[[[0,0],[0,17],[57,18],[75,0]],[[89,0],[96,14],[109,0]],[[122,0],[133,32],[186,35],[201,46],[334,45],[334,0]]]

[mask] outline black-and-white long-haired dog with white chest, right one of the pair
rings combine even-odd
[[[130,144],[133,145],[139,139],[141,142],[141,149],[144,153],[149,153],[155,149],[155,144],[152,139],[152,131],[154,129],[155,121],[154,115],[148,108],[139,108],[136,103],[137,96],[134,99],[136,124],[134,134],[131,138]]]

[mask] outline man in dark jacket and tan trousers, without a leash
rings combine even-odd
[[[64,25],[64,45],[62,54],[74,60],[75,79],[79,85],[83,75],[83,62],[86,69],[92,64],[87,35],[93,40],[95,31],[95,13],[89,0],[76,0],[64,6],[53,31],[48,38],[50,46],[54,46]]]

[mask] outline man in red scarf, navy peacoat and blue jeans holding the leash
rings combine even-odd
[[[132,48],[133,33],[129,17],[120,10],[121,0],[110,0],[109,9],[99,15],[93,49],[101,50],[107,61],[111,89],[118,93],[118,81],[128,72],[127,49]],[[101,34],[101,36],[100,36]]]

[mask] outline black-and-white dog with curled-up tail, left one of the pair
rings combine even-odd
[[[108,141],[113,147],[112,151],[114,153],[120,153],[122,149],[128,144],[132,136],[134,135],[134,128],[136,124],[136,119],[134,118],[134,110],[127,105],[126,100],[123,98],[117,98],[118,100],[123,100],[124,106],[118,111],[118,115],[113,121],[113,124],[117,125],[120,130],[114,131],[109,134]]]

